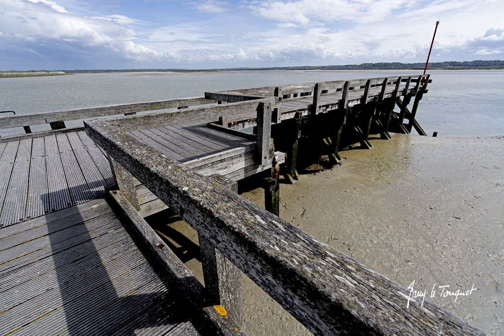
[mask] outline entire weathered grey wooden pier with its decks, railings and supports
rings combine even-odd
[[[429,82],[0,117],[26,132],[0,139],[0,334],[244,334],[241,273],[315,334],[484,334],[429,302],[406,309],[407,289],[277,216],[279,173],[297,178],[300,140],[324,141],[337,164],[345,141],[425,135],[415,115]],[[65,127],[75,119],[85,128]],[[32,133],[40,123],[52,130]],[[256,174],[269,211],[236,194]],[[198,232],[205,286],[143,219],[166,208]]]

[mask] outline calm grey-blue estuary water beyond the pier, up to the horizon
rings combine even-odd
[[[504,70],[428,73],[432,83],[417,113],[417,120],[427,134],[437,131],[438,137],[504,135]],[[201,97],[205,91],[418,74],[419,71],[412,70],[314,70],[125,72],[5,78],[0,79],[0,111],[29,114]],[[0,130],[0,136],[19,131]]]

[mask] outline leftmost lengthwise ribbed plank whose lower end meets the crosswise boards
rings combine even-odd
[[[25,219],[31,147],[31,139],[24,139],[19,142],[4,206],[2,208],[2,215],[0,215],[0,226],[2,227],[18,223]]]

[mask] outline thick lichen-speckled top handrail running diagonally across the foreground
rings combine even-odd
[[[246,103],[250,102],[234,104]],[[221,107],[228,105],[233,104]],[[143,120],[149,127],[154,117],[96,119],[85,127],[110,157],[310,331],[484,334],[430,302],[421,305],[403,286],[129,135],[132,120],[134,127],[144,127]]]

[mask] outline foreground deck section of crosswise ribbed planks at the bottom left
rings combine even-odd
[[[199,334],[104,199],[0,229],[0,278],[2,335]]]

